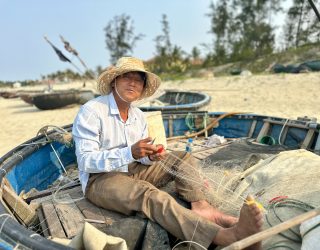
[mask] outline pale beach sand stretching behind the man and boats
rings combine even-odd
[[[53,89],[81,87],[82,82],[74,82],[57,84]],[[94,87],[94,83],[87,83],[87,89]],[[16,90],[44,88],[45,86],[36,86]],[[290,119],[309,116],[320,121],[317,93],[320,88],[320,73],[228,76],[163,82],[161,89],[167,88],[209,94],[212,97],[209,111],[252,112]],[[39,110],[20,98],[0,97],[0,156],[36,136],[43,126],[71,124],[79,107],[73,105],[57,110]]]

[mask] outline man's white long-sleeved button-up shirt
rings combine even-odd
[[[128,172],[128,164],[135,161],[131,146],[148,137],[148,129],[143,112],[133,106],[130,106],[128,119],[124,122],[111,93],[90,100],[81,107],[73,123],[72,135],[79,179],[85,193],[89,173]],[[148,157],[138,161],[152,164]]]

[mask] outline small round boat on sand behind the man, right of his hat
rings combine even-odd
[[[211,97],[205,93],[179,90],[165,90],[159,97],[144,103],[139,108],[142,111],[172,111],[203,109],[211,101]]]

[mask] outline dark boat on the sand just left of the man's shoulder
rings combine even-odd
[[[62,108],[71,104],[84,104],[94,98],[91,90],[68,90],[33,96],[33,104],[42,110]]]

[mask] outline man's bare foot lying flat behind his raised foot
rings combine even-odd
[[[204,200],[192,202],[191,210],[224,228],[232,227],[238,222],[238,218],[222,213]]]

